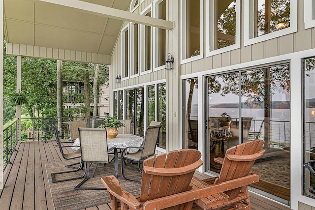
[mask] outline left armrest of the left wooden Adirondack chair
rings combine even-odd
[[[101,181],[111,195],[128,205],[130,209],[140,208],[140,202],[133,195],[131,195],[131,193],[121,188],[121,186],[119,185],[119,180],[117,180],[116,177],[102,177]]]

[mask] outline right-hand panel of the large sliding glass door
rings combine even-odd
[[[290,75],[289,65],[241,73],[242,142],[264,141],[265,153],[252,170],[254,188],[290,200]],[[288,203],[286,203],[288,204]]]

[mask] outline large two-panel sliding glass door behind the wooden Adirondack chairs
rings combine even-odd
[[[260,181],[252,190],[288,204],[290,200],[289,65],[208,77],[209,171],[220,172],[213,157],[239,143],[263,140],[265,153],[252,170]],[[256,190],[257,191],[257,190]]]

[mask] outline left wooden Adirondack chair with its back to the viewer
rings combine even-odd
[[[117,199],[121,202],[122,210],[126,210],[128,206],[129,209],[146,209],[148,201],[190,190],[194,171],[202,165],[200,157],[198,150],[186,149],[170,151],[144,160],[140,202],[122,189],[114,176],[101,178],[110,193],[111,209],[118,209]],[[179,209],[191,209],[193,200],[188,203],[180,198],[178,200],[181,201],[176,204],[180,205]]]

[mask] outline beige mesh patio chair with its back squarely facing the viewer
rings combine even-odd
[[[95,168],[91,175],[91,178],[94,177],[98,163],[110,163],[115,159],[115,177],[118,174],[118,159],[117,159],[117,150],[114,148],[107,148],[107,134],[106,128],[83,128],[79,127],[79,138],[81,146],[81,160],[86,164],[82,180],[74,189],[106,189],[98,187],[81,187],[81,185],[89,179],[90,176],[90,166],[92,163],[95,163]],[[108,151],[114,149],[114,155],[108,153]]]

